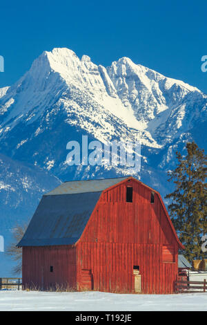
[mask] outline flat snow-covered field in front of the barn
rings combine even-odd
[[[207,310],[207,294],[118,295],[0,291],[1,310]]]

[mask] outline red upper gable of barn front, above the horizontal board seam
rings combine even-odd
[[[128,187],[133,188],[132,205],[126,203]],[[103,190],[79,241],[177,243],[184,249],[159,192],[132,177]]]

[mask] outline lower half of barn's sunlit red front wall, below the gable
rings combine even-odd
[[[140,266],[142,293],[173,293],[177,263],[162,263],[162,245],[79,243],[77,281],[81,270],[91,270],[93,290],[135,293],[133,266]]]

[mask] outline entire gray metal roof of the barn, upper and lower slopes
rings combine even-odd
[[[43,195],[18,246],[76,243],[104,189],[128,177],[62,183]]]

